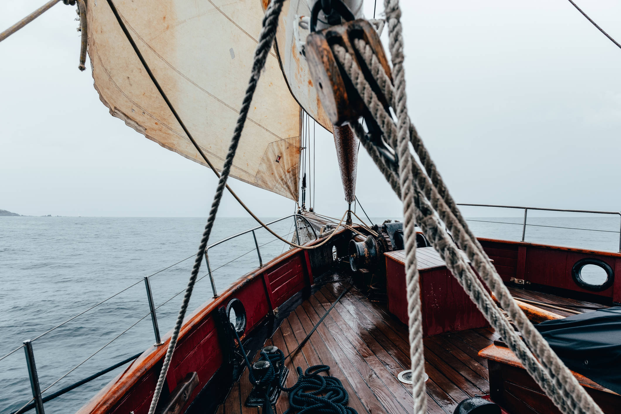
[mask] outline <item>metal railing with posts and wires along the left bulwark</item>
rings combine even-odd
[[[297,239],[296,240],[300,240],[299,238],[299,233],[298,233],[298,220],[301,219],[302,221],[306,222],[308,227],[311,227],[313,235],[315,236],[315,240],[317,240],[317,233],[315,232],[315,229],[312,227],[311,223],[307,220],[306,217],[304,217],[301,214],[290,214],[290,215],[286,215],[284,217],[281,218],[277,218],[276,220],[273,220],[271,222],[265,223],[266,225],[271,225],[277,222],[281,222],[283,220],[286,220],[288,218],[294,218],[294,223],[295,223],[295,230],[293,232],[289,232],[287,235],[285,235],[284,237],[288,237],[289,235],[291,235],[292,233],[296,233]],[[201,278],[199,278],[196,282],[201,281],[202,279],[204,279],[204,277],[209,276],[209,281],[211,282],[211,288],[212,288],[212,292],[214,294],[214,298],[218,297],[217,291],[215,289],[215,282],[214,282],[214,272],[217,271],[220,268],[224,268],[224,266],[227,266],[227,264],[233,263],[234,261],[236,261],[237,259],[242,258],[243,256],[245,256],[248,253],[251,253],[252,251],[256,250],[257,256],[258,256],[258,262],[259,262],[259,268],[263,267],[263,259],[261,258],[261,251],[260,248],[268,245],[270,243],[273,243],[274,241],[279,240],[278,238],[274,238],[274,240],[268,241],[267,243],[264,243],[263,245],[259,245],[257,240],[256,240],[256,234],[255,231],[259,230],[260,228],[263,228],[262,226],[257,226],[257,227],[253,227],[250,228],[248,230],[245,230],[244,232],[240,232],[237,234],[234,234],[232,236],[228,236],[223,238],[222,240],[216,241],[215,243],[212,243],[211,245],[207,246],[206,250],[205,250],[205,259],[206,259],[206,264],[207,264],[207,274],[205,274],[204,276],[202,276]],[[248,234],[248,233],[252,233],[253,236],[253,240],[255,242],[255,248],[253,248],[250,251],[247,251],[246,253],[241,254],[240,256],[237,256],[236,258],[233,258],[232,260],[228,261],[225,264],[222,264],[221,266],[218,266],[215,269],[211,269],[211,264],[209,263],[209,255],[207,254],[209,249],[214,248],[215,246],[221,245],[222,243],[225,243],[226,241],[232,240],[234,238],[237,238],[239,236]],[[127,333],[127,331],[129,331],[131,328],[133,328],[134,326],[136,326],[140,321],[142,321],[144,318],[148,317],[149,315],[151,316],[151,320],[153,323],[153,335],[155,336],[155,346],[160,346],[162,343],[161,338],[160,338],[160,329],[158,327],[158,320],[157,320],[157,315],[156,315],[156,310],[160,307],[162,307],[163,305],[167,304],[168,302],[170,302],[172,299],[175,299],[175,297],[177,297],[178,295],[180,295],[181,293],[185,292],[186,289],[183,289],[181,291],[179,291],[178,293],[176,293],[175,295],[173,295],[172,297],[170,297],[168,300],[166,300],[163,304],[159,305],[159,306],[155,306],[155,302],[153,301],[153,294],[151,291],[151,283],[150,283],[150,277],[155,276],[156,274],[165,271],[166,269],[170,269],[173,266],[176,266],[190,258],[196,257],[196,254],[192,254],[191,256],[188,256],[187,258],[178,261],[175,264],[171,264],[170,266],[161,269],[160,271],[157,271],[149,276],[145,276],[143,277],[143,279],[138,280],[137,282],[135,282],[134,284],[125,287],[125,289],[119,290],[119,292],[116,292],[116,294],[111,295],[109,297],[107,297],[104,300],[101,300],[100,302],[97,302],[97,304],[94,304],[93,306],[89,307],[88,309],[84,310],[83,312],[78,313],[77,315],[69,318],[68,320],[65,320],[65,322],[61,322],[58,325],[53,326],[53,328],[50,328],[49,330],[43,332],[42,334],[36,336],[34,339],[32,340],[26,340],[24,341],[24,343],[20,346],[18,346],[16,349],[13,349],[11,352],[5,354],[4,356],[0,357],[0,361],[2,361],[3,359],[7,358],[8,356],[10,356],[13,353],[16,353],[17,351],[19,351],[20,349],[24,348],[25,351],[25,358],[26,358],[26,366],[28,369],[28,375],[30,378],[30,388],[32,389],[32,398],[30,398],[30,400],[28,402],[26,402],[24,405],[22,405],[22,407],[20,407],[18,410],[12,412],[11,414],[21,414],[21,413],[25,413],[29,410],[32,410],[32,408],[35,408],[37,414],[44,414],[44,409],[43,409],[43,403],[48,402],[50,400],[52,400],[53,398],[56,397],[60,397],[60,395],[66,394],[67,392],[75,389],[76,387],[79,387],[80,385],[86,384],[86,382],[89,382],[90,380],[96,379],[97,377],[100,377],[104,374],[106,374],[107,372],[112,371],[113,369],[116,369],[117,367],[129,362],[129,361],[133,361],[134,359],[138,358],[138,356],[140,356],[142,353],[138,353],[135,354],[134,356],[125,359],[124,361],[120,361],[117,362],[117,364],[114,364],[111,367],[107,367],[106,369],[97,372],[96,374],[93,374],[92,376],[89,376],[85,379],[79,380],[78,382],[75,382],[71,385],[68,385],[67,387],[64,387],[61,390],[58,390],[57,392],[54,392],[53,394],[50,395],[46,395],[45,397],[43,397],[43,393],[45,391],[47,391],[48,389],[50,389],[51,387],[53,387],[53,385],[58,384],[58,382],[60,380],[62,380],[63,378],[65,378],[66,376],[68,376],[69,374],[71,374],[71,372],[75,371],[75,369],[77,369],[79,366],[81,366],[82,364],[84,364],[84,362],[88,361],[89,359],[93,358],[93,356],[95,356],[97,353],[99,353],[99,351],[101,351],[102,349],[106,348],[106,346],[108,346],[109,344],[111,344],[112,342],[116,341],[118,338],[120,338],[120,336],[124,335],[125,333]],[[47,335],[48,333],[57,330],[58,328],[60,328],[61,326],[65,325],[68,322],[71,322],[72,320],[74,320],[75,318],[78,318],[81,315],[84,315],[84,313],[89,312],[90,310],[96,308],[97,306],[104,304],[105,302],[107,302],[108,300],[116,297],[117,295],[125,292],[126,290],[130,289],[131,287],[136,286],[137,284],[139,284],[140,282],[144,281],[145,282],[145,288],[147,291],[147,301],[148,301],[148,305],[149,305],[149,313],[147,313],[146,315],[143,315],[141,318],[139,318],[135,323],[133,323],[131,326],[129,326],[129,328],[125,329],[124,331],[122,331],[119,335],[117,335],[115,338],[113,338],[111,341],[109,341],[108,343],[106,343],[104,346],[102,346],[101,348],[97,349],[97,351],[93,354],[91,354],[88,358],[84,359],[84,361],[80,362],[78,365],[74,366],[73,368],[70,369],[70,371],[66,372],[66,374],[64,374],[63,376],[61,376],[60,378],[58,378],[57,380],[55,380],[54,382],[52,382],[52,384],[48,385],[48,387],[46,387],[45,389],[41,389],[40,384],[39,384],[39,376],[37,374],[37,367],[35,364],[35,358],[34,358],[34,350],[32,348],[32,343],[36,340],[38,340],[39,338],[42,338],[42,336]]]

